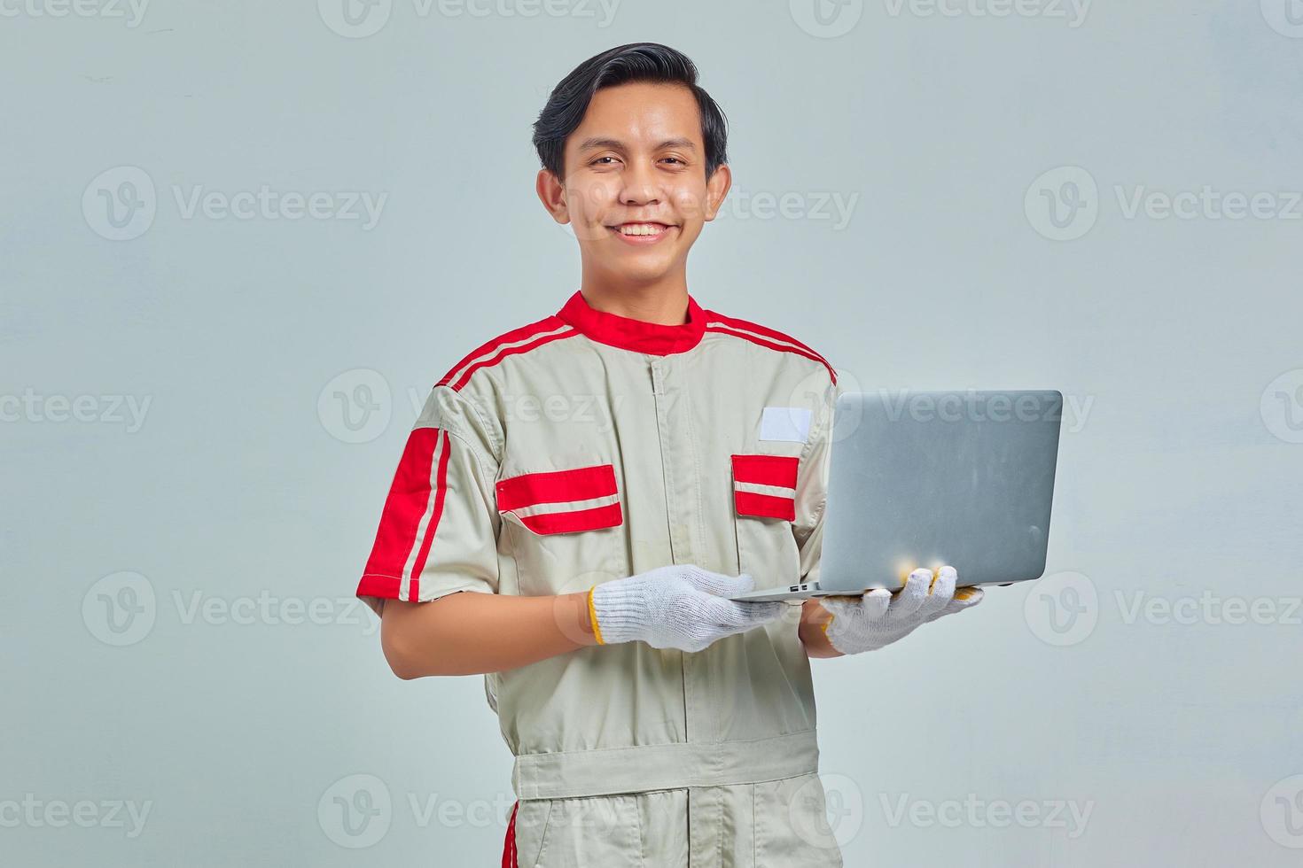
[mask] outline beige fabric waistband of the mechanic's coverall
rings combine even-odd
[[[813,729],[744,742],[676,742],[523,753],[517,799],[573,799],[689,786],[757,783],[818,772]]]

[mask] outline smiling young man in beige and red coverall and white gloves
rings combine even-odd
[[[838,387],[805,344],[688,294],[730,186],[696,81],[640,43],[551,92],[537,191],[580,289],[435,384],[357,588],[400,678],[485,674],[516,757],[504,867],[840,865],[809,657],[981,599],[950,567],[896,595],[727,599],[816,576]]]

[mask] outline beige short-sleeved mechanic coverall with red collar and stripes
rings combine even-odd
[[[576,292],[439,380],[357,587],[560,595],[668,563],[817,578],[838,387],[780,332]],[[698,652],[584,647],[485,675],[515,756],[503,865],[842,865],[800,606]]]

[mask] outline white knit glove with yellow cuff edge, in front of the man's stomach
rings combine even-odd
[[[588,612],[599,644],[641,639],[653,648],[701,651],[715,639],[783,614],[784,605],[775,600],[724,599],[754,587],[754,579],[745,573],[734,576],[672,563],[594,584],[588,591]]]

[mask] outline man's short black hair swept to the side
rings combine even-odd
[[[706,146],[706,178],[727,163],[728,122],[723,111],[697,85],[697,66],[687,55],[657,42],[633,42],[589,57],[552,88],[534,121],[534,150],[545,169],[564,178],[566,138],[584,120],[602,87],[629,82],[683,85],[697,98],[701,138]]]

